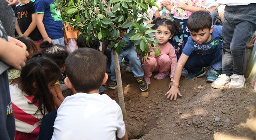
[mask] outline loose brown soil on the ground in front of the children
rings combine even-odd
[[[214,89],[206,76],[180,80],[182,98],[168,100],[170,78],[151,78],[141,92],[132,72],[122,71],[130,139],[138,140],[256,140],[256,92],[249,83],[242,89]],[[107,89],[118,102],[117,90]]]

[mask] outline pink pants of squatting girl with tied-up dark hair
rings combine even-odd
[[[144,76],[152,76],[152,72],[163,72],[169,74],[171,69],[171,59],[167,54],[162,54],[157,58],[149,57],[150,59],[146,64],[142,64]]]

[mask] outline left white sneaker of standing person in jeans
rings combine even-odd
[[[212,82],[213,88],[222,88],[226,86],[230,82],[230,76],[227,76],[226,74],[220,74],[218,78]]]

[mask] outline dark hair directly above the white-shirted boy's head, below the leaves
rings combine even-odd
[[[92,38],[89,38],[89,40],[86,40],[86,37],[84,34],[80,34],[78,38],[76,39],[76,43],[78,48],[93,48],[95,50],[98,50],[100,47],[100,41],[95,36],[92,36]]]

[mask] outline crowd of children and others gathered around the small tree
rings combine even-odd
[[[141,91],[148,89],[153,72],[155,80],[170,75],[165,95],[176,100],[182,96],[180,77],[198,78],[208,66],[206,82],[213,88],[244,87],[244,51],[256,39],[248,40],[256,30],[255,0],[217,0],[208,7],[206,0],[158,0],[157,4],[160,9],[149,9],[152,17],[145,22],[154,24],[157,47],[150,46],[150,54],[141,58],[134,42],[124,36],[128,45],[118,55],[119,63],[129,60]],[[210,13],[220,4],[226,7],[220,15],[222,26],[217,26]],[[108,88],[117,88],[108,42],[96,36],[86,40],[78,30],[66,28],[56,7],[54,0],[20,0],[14,9],[16,38],[0,20],[0,120],[4,120],[0,139],[12,140],[15,134],[15,140],[127,140],[121,108],[99,94],[105,90],[107,69]],[[161,51],[158,56],[156,48]],[[74,95],[65,98],[60,84]]]

